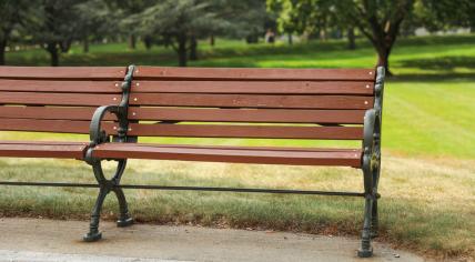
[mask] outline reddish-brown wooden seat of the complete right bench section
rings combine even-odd
[[[94,148],[93,157],[115,159],[160,159],[231,163],[345,165],[361,167],[361,151],[265,151],[252,149],[203,149],[163,147],[115,147],[117,143]]]

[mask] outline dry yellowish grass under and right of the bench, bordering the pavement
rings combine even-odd
[[[79,161],[3,159],[0,179],[94,182]],[[112,167],[110,164],[110,167]],[[382,239],[438,258],[475,255],[475,161],[386,157]],[[361,191],[360,170],[174,161],[131,161],[123,183]],[[97,190],[0,189],[3,215],[87,219]],[[352,198],[127,190],[135,219],[158,223],[357,235],[363,200]],[[114,218],[108,198],[104,216]],[[78,236],[79,238],[79,236]]]

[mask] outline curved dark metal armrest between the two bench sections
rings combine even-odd
[[[105,113],[111,112],[117,115],[120,127],[127,127],[127,119],[119,105],[102,105],[98,108],[92,115],[91,125],[89,127],[89,138],[91,145],[97,145],[108,141],[108,134],[101,129],[101,122]],[[118,132],[125,132],[127,130],[118,130]]]

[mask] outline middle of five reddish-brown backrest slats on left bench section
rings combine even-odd
[[[121,99],[122,94],[0,92],[3,104],[108,105]]]

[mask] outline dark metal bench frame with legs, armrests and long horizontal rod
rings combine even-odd
[[[110,112],[117,115],[119,127],[117,135],[112,137],[114,142],[137,142],[137,137],[128,137],[129,131],[129,97],[132,88],[134,66],[128,68],[124,81],[122,82],[122,101],[119,105],[104,105],[95,110],[90,125],[90,145],[85,152],[84,161],[92,165],[98,184],[89,183],[54,183],[54,182],[12,182],[0,181],[0,185],[37,185],[37,187],[67,187],[67,188],[99,188],[99,195],[92,209],[91,223],[89,232],[83,240],[92,242],[102,238],[99,231],[99,221],[102,204],[105,196],[112,191],[119,201],[120,215],[117,222],[118,226],[128,226],[133,224],[133,219],[129,214],[128,203],[122,189],[154,189],[154,190],[191,190],[191,191],[219,191],[219,192],[245,192],[245,193],[285,193],[285,194],[311,194],[311,195],[342,195],[342,196],[364,196],[364,222],[362,231],[362,244],[357,252],[361,258],[368,258],[373,254],[371,245],[372,238],[377,236],[378,211],[377,185],[381,173],[381,130],[382,130],[382,110],[384,92],[384,67],[378,67],[375,78],[375,100],[373,109],[366,111],[364,117],[364,139],[362,170],[364,179],[364,193],[358,192],[329,192],[329,191],[306,191],[306,190],[274,190],[274,189],[241,189],[241,188],[210,188],[210,187],[172,187],[172,185],[145,185],[145,184],[120,184],[120,180],[127,167],[127,159],[114,160],[118,162],[115,173],[111,179],[107,179],[102,170],[101,162],[108,159],[99,159],[92,155],[94,148],[110,141],[110,135],[101,129],[103,117]]]

